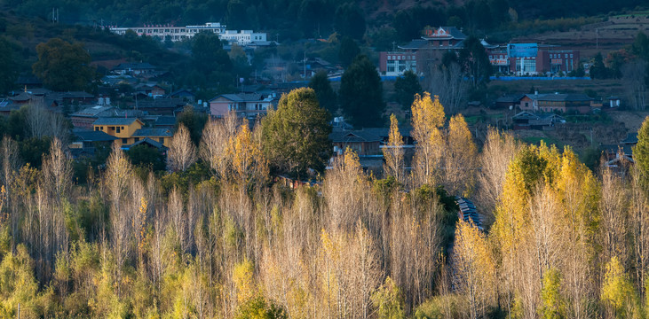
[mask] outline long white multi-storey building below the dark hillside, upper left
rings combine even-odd
[[[226,30],[225,25],[218,22],[208,22],[202,26],[175,27],[170,25],[145,25],[143,27],[110,27],[110,31],[117,35],[125,35],[127,30],[133,30],[138,35],[148,35],[159,38],[161,41],[170,36],[173,42],[189,39],[199,32],[211,32],[218,38],[228,43],[237,43],[241,46],[253,42],[265,42],[266,34],[252,30]]]

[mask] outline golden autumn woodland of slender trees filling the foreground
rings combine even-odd
[[[269,173],[289,159],[265,147],[262,132],[293,121],[295,105],[317,108],[315,98],[311,89],[282,97],[280,110],[253,130],[234,116],[210,121],[198,145],[181,126],[169,171],[158,174],[115,146],[99,174],[73,181],[58,139],[37,169],[21,164],[5,136],[0,314],[642,318],[649,311],[649,119],[635,165],[592,172],[569,147],[521,144],[495,130],[478,152],[463,116],[447,121],[439,99],[424,94],[412,105],[411,170],[392,116],[384,178],[364,173],[348,150],[322,183],[273,183]],[[455,195],[474,199],[485,231],[457,220]]]

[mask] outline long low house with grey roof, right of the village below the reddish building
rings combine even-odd
[[[519,108],[528,112],[558,112],[587,114],[592,111],[595,99],[585,94],[526,94]]]

